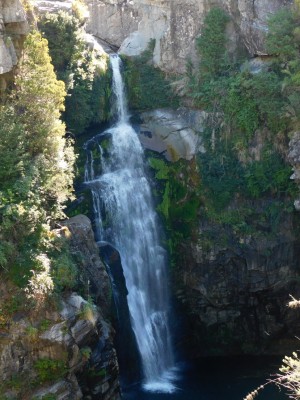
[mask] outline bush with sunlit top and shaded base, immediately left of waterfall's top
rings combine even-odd
[[[63,117],[68,130],[80,134],[91,124],[106,121],[111,82],[107,57],[89,49],[76,16],[62,11],[47,14],[39,27],[49,42],[57,76],[66,84]]]

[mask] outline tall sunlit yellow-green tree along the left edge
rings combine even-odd
[[[30,33],[15,89],[0,106],[0,265],[18,285],[30,280],[31,288],[46,291],[50,253],[58,246],[50,227],[72,196],[74,153],[60,120],[64,98],[47,41]]]

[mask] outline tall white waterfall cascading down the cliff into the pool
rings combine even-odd
[[[92,155],[92,148],[97,151],[100,143],[99,136],[86,144],[89,155],[85,179],[93,194],[98,240],[110,242],[120,253],[131,324],[142,360],[143,387],[172,392],[174,357],[168,322],[166,254],[160,245],[143,149],[128,123],[121,60],[114,55],[110,61],[118,121],[105,132],[111,137],[106,154],[98,150],[99,175]]]

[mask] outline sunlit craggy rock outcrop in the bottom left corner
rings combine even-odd
[[[2,294],[4,290],[1,288]],[[45,310],[42,311],[45,312]],[[104,341],[100,353],[97,347],[99,338]],[[109,362],[102,359],[107,357],[107,353],[110,353]],[[97,382],[97,386],[102,391],[100,393],[103,395],[100,397],[97,393],[99,396],[97,399],[117,399],[118,364],[112,347],[112,329],[103,320],[99,311],[76,293],[72,293],[62,300],[59,312],[47,311],[45,316],[43,313],[37,312],[34,321],[29,319],[26,314],[15,316],[9,326],[3,327],[1,330],[0,375],[2,384],[5,385],[14,376],[18,376],[20,380],[24,379],[28,383],[41,379],[39,378],[39,367],[37,367],[38,360],[47,360],[45,362],[49,363],[48,368],[55,363],[64,365],[61,377],[54,379],[54,382],[51,381],[52,377],[49,372],[49,379],[42,378],[38,386],[42,384],[43,387],[33,390],[32,398],[39,399],[47,394],[53,394],[58,399],[66,400],[83,398],[82,391],[85,390],[85,387],[83,385],[83,388],[80,388],[78,377],[80,379],[82,371],[89,369],[89,366],[93,364],[93,357],[96,356],[101,359],[101,362],[98,362],[95,370],[105,369],[106,371],[105,380],[101,378]],[[50,364],[51,362],[53,364]],[[104,390],[104,386],[106,387],[108,383],[107,390]],[[115,385],[116,392],[111,397],[105,397],[106,392],[113,385]],[[95,387],[92,389],[95,391]],[[14,390],[7,393],[20,396]]]

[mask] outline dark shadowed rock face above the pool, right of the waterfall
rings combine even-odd
[[[201,221],[199,241],[182,245],[175,286],[189,315],[194,356],[195,349],[203,356],[287,354],[297,348],[300,312],[287,307],[289,294],[300,295],[300,243],[292,227],[287,215],[276,236],[238,241]]]

